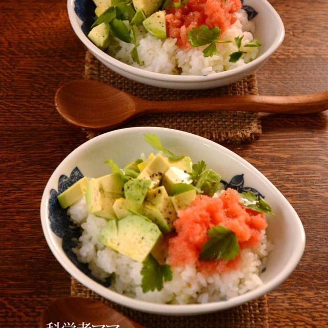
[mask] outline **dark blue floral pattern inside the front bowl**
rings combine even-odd
[[[105,282],[95,278],[92,275],[91,270],[88,268],[88,264],[79,262],[76,254],[72,251],[72,249],[78,245],[78,238],[82,234],[82,229],[70,220],[69,216],[67,215],[67,210],[61,208],[57,199],[57,196],[60,193],[64,192],[67,188],[72,186],[73,183],[83,177],[84,175],[81,173],[81,171],[75,167],[69,177],[64,174],[59,177],[57,191],[55,189],[50,190],[48,206],[50,228],[55,235],[63,239],[61,247],[71,262],[89,278],[108,287],[111,283],[110,278],[107,278]],[[230,182],[221,180],[221,183],[224,185],[224,189],[232,188],[238,192],[252,191],[258,197],[261,196],[264,198],[264,196],[260,194],[256,189],[243,186],[243,174],[235,175],[230,180]]]

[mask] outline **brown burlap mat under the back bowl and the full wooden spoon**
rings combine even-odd
[[[250,75],[229,86],[207,90],[171,90],[134,82],[108,69],[90,52],[86,54],[85,78],[98,80],[148,100],[179,100],[218,95],[258,94],[256,76]],[[216,142],[243,142],[258,138],[261,122],[257,113],[202,112],[167,113],[135,118],[118,128],[165,127],[200,135]],[[88,137],[95,136],[89,133]]]

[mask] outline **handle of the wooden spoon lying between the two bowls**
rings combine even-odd
[[[147,112],[248,111],[308,114],[328,109],[328,91],[296,96],[238,95],[187,100],[147,100]]]

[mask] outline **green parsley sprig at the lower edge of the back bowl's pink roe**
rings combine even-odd
[[[187,38],[192,47],[209,45],[203,50],[203,55],[204,57],[212,57],[217,52],[217,43],[231,42],[230,40],[219,40],[220,33],[221,30],[216,26],[209,29],[208,26],[201,25],[200,27],[193,27],[187,33]]]

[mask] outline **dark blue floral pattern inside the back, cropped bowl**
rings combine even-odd
[[[253,7],[244,5],[243,3],[244,0],[241,0],[242,9],[247,12],[248,19],[254,18],[258,12]],[[83,22],[81,29],[86,35],[90,32],[91,25],[96,19],[95,9],[96,6],[92,0],[75,0],[74,2],[74,11]]]

